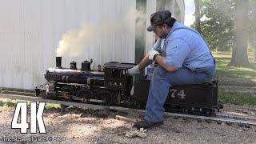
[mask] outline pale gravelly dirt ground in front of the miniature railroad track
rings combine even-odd
[[[225,112],[256,116],[256,106],[225,105]],[[165,117],[164,125],[148,131],[133,128],[132,122],[115,119],[120,112],[110,112],[105,118],[92,110],[70,108],[66,114],[59,110],[45,110],[46,134],[20,134],[10,127],[14,108],[0,109],[0,143],[12,138],[17,143],[38,138],[43,143],[256,143],[256,126],[228,126],[225,123],[198,122],[193,119]],[[142,118],[143,114],[129,112],[128,118]],[[41,138],[41,139],[40,139]]]

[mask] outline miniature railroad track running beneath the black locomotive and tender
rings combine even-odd
[[[137,111],[144,113],[145,110],[138,110],[138,109],[130,109],[124,108],[119,106],[100,106],[100,105],[93,105],[81,102],[66,102],[66,101],[58,101],[52,99],[44,99],[38,98],[35,96],[26,96],[23,94],[5,94],[0,93],[0,98],[9,98],[15,100],[24,100],[24,101],[32,101],[32,102],[47,102],[47,103],[54,103],[54,104],[61,104],[66,106],[76,106],[84,109],[94,109],[94,110],[120,110],[120,111]],[[194,118],[197,120],[207,120],[207,121],[214,121],[214,122],[226,122],[229,124],[237,123],[238,125],[254,125],[256,126],[256,117],[249,117],[249,116],[241,116],[235,114],[224,114],[224,113],[217,113],[215,117],[206,117],[206,116],[198,116],[198,115],[190,115],[190,114],[176,114],[176,113],[168,113],[166,112],[165,115],[169,115],[172,117],[178,118]]]

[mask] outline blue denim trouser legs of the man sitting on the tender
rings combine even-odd
[[[145,119],[148,122],[161,122],[165,111],[163,108],[170,87],[174,85],[200,84],[210,82],[215,75],[215,66],[189,70],[182,67],[172,73],[161,66],[154,68],[150,82],[150,91],[146,102]]]

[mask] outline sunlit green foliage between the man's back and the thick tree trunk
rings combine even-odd
[[[201,29],[212,50],[226,51],[234,46],[234,10],[226,1],[202,0]]]

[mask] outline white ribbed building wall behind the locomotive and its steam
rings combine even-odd
[[[56,48],[63,34],[79,30],[83,22],[96,29],[105,25],[104,20],[118,23],[134,10],[135,0],[1,1],[0,86],[33,89],[44,83],[42,73],[55,66]],[[74,60],[81,67],[81,62],[90,58],[96,65],[134,62],[135,18],[129,20],[125,24],[129,30],[106,30],[78,57],[62,55],[62,66],[68,67]]]

